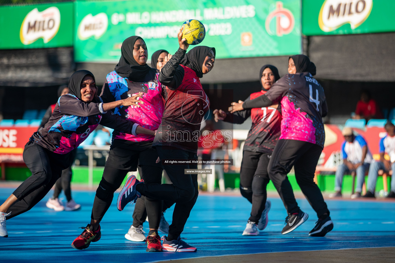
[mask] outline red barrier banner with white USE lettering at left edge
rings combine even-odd
[[[38,127],[0,127],[0,162],[23,162],[24,145]]]

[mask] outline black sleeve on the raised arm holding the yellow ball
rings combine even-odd
[[[180,66],[186,50],[179,48],[171,59],[162,67],[158,80],[170,90],[176,90],[184,78],[184,69]]]

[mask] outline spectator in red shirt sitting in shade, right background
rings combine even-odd
[[[383,115],[378,108],[376,101],[372,99],[371,93],[367,90],[361,92],[361,99],[357,103],[357,108],[355,109],[355,115],[352,116],[353,119],[381,119]]]

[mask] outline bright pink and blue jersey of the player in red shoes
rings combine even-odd
[[[142,98],[139,98],[144,102],[144,104],[140,104],[140,108],[136,106],[120,106],[115,108],[114,113],[118,114],[123,119],[135,123],[134,130],[135,127],[140,125],[141,127],[155,131],[160,125],[164,111],[162,99],[164,90],[162,90],[162,85],[158,82],[158,74],[157,69],[151,68],[142,82],[133,82],[128,78],[119,76],[117,72],[112,71],[106,77],[100,97],[105,103],[109,103],[120,99],[126,99],[139,92],[145,93]],[[153,135],[133,135],[118,130],[113,132],[113,138],[133,142],[152,142],[154,140]]]

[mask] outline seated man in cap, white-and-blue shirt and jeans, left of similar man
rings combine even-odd
[[[343,164],[340,164],[335,175],[335,193],[330,194],[329,198],[342,196],[342,181],[345,173],[355,171],[357,174],[357,188],[351,195],[352,199],[360,198],[362,185],[365,181],[365,171],[373,158],[368,149],[365,139],[361,135],[354,135],[351,128],[345,127],[342,131],[345,141],[342,144]]]

